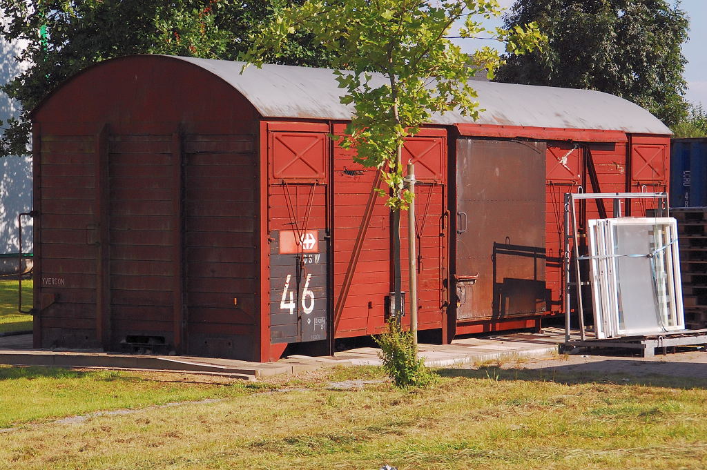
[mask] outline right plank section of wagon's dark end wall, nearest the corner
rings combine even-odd
[[[258,359],[255,137],[186,135],[184,153],[187,349]]]

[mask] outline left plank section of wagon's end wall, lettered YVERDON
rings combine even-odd
[[[96,329],[98,220],[95,135],[37,136],[35,207],[35,302],[54,295],[59,301],[40,310],[42,347],[100,347]],[[35,175],[37,174],[35,172]],[[37,339],[35,339],[37,341]]]

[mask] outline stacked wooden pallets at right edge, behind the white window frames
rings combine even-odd
[[[677,219],[687,329],[707,328],[707,207],[671,208]]]

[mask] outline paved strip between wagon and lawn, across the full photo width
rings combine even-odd
[[[433,367],[471,368],[498,361],[503,367],[556,372],[600,372],[626,375],[667,375],[707,379],[707,352],[691,348],[653,358],[637,358],[626,351],[607,351],[590,356],[581,351],[559,356],[558,345],[563,331],[547,328],[541,333],[512,333],[455,339],[451,344],[420,344],[420,355]],[[138,370],[188,371],[256,380],[278,374],[337,365],[380,365],[378,349],[355,348],[334,356],[289,356],[276,363],[253,363],[245,360],[198,358],[194,356],[136,356],[98,351],[33,350],[31,335],[0,337],[0,364],[48,365],[69,368],[112,368]],[[518,360],[513,360],[518,358]]]

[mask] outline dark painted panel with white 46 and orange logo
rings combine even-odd
[[[272,343],[327,339],[327,242],[325,230],[301,234],[300,249],[292,253],[281,244],[296,234],[270,233],[270,335]],[[317,249],[317,251],[314,251]]]

